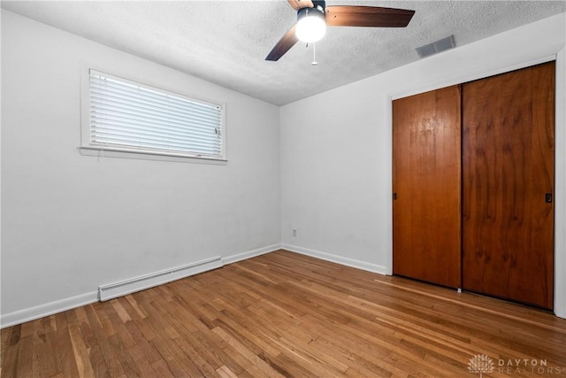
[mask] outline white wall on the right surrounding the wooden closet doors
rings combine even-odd
[[[530,66],[558,54],[555,312],[566,317],[564,25],[562,13],[283,106],[283,247],[391,274],[392,98]]]

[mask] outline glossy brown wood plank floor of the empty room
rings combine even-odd
[[[4,328],[0,373],[566,376],[566,320],[277,251]]]

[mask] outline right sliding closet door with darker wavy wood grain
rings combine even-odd
[[[463,84],[463,288],[553,307],[555,64]]]

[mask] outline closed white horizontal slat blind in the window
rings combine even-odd
[[[222,158],[221,105],[94,70],[89,83],[91,146]]]

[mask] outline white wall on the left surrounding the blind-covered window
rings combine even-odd
[[[81,156],[80,61],[226,103],[226,165]],[[2,11],[2,320],[279,248],[279,107]]]

